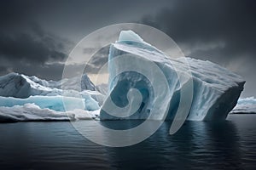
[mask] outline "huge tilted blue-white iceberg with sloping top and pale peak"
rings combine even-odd
[[[164,95],[170,96],[170,98],[167,99],[168,101],[162,101],[161,105],[154,105],[155,99],[161,96],[154,96],[151,82],[148,81],[147,77],[143,77],[143,75],[134,71],[126,71],[116,76],[116,72],[122,70],[125,64],[119,65],[118,63],[109,62],[110,81],[108,90],[110,95],[108,99],[112,99],[113,103],[119,107],[125,107],[129,103],[127,94],[129,94],[130,89],[137,88],[142,95],[142,101],[137,112],[127,117],[112,116],[102,110],[100,115],[102,120],[147,119],[150,110],[154,106],[161,108],[166,105],[169,105],[166,118],[173,119],[181,98],[181,89],[186,90],[186,85],[190,81],[193,81],[193,99],[187,119],[193,121],[223,120],[236,105],[245,83],[240,76],[210,61],[183,57],[171,59],[157,48],[143,42],[143,39],[133,31],[120,32],[119,40],[110,46],[108,60],[110,61],[123,54],[137,57],[133,61],[130,60],[126,65],[147,67],[147,62],[137,63],[137,60],[142,59],[158,65],[164,73],[170,89]],[[189,65],[186,65],[186,62]],[[150,65],[147,68],[149,72],[154,72]],[[191,77],[188,77],[188,71],[191,72]],[[183,75],[187,78],[180,82],[177,75]],[[157,78],[155,77],[155,79]],[[102,108],[104,107],[108,107],[108,104],[103,104]]]

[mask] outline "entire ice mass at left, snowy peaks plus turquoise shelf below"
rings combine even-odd
[[[91,119],[103,100],[85,74],[81,82],[79,77],[55,82],[18,73],[0,77],[0,122]]]

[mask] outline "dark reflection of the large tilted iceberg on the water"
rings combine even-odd
[[[140,144],[108,148],[109,160],[121,168],[241,169],[239,138],[232,122],[185,122],[172,136],[170,126],[165,122]]]

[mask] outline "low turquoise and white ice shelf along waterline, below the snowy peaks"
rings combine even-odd
[[[65,106],[64,106],[65,104]],[[84,99],[63,96],[0,97],[0,122],[68,121],[98,116],[99,105],[89,94]]]

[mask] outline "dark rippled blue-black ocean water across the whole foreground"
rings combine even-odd
[[[0,169],[256,169],[256,115],[185,122],[174,135],[169,128],[165,122],[140,144],[109,148],[70,122],[0,124]]]

